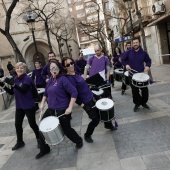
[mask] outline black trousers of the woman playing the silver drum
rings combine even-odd
[[[44,119],[45,117],[48,117],[48,116],[55,116],[55,112],[56,112],[57,116],[60,116],[60,115],[65,113],[65,110],[53,110],[53,109],[48,108],[46,110],[46,112],[44,113],[42,119]],[[81,143],[82,142],[82,138],[71,127],[70,120],[71,120],[71,114],[64,115],[64,116],[61,116],[59,118],[62,130],[63,130],[64,134],[73,143]],[[40,132],[40,140],[39,141],[40,141],[40,152],[42,152],[42,153],[47,152],[50,149],[50,147],[48,146],[48,144],[45,143],[43,134],[41,132]]]

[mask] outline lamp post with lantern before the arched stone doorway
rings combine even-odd
[[[26,14],[25,15],[25,20],[26,20],[26,22],[28,24],[29,29],[32,32],[35,52],[36,52],[36,56],[38,58],[38,48],[37,48],[37,44],[36,44],[36,41],[35,41],[35,34],[34,34],[34,31],[35,31],[35,19],[37,18],[37,15],[34,14],[31,10],[26,11],[25,14]]]

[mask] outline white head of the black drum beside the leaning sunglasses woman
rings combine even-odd
[[[114,102],[111,99],[103,98],[96,102],[96,107],[99,110],[109,110],[114,106]]]

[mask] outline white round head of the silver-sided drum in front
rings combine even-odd
[[[50,132],[59,125],[59,119],[55,116],[49,116],[44,118],[39,125],[41,132]]]

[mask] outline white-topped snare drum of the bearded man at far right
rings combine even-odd
[[[132,84],[135,87],[143,88],[149,85],[149,79],[146,73],[136,73],[132,77]]]

